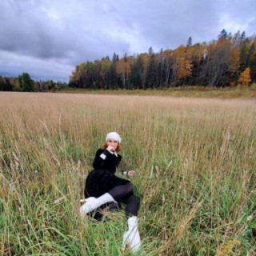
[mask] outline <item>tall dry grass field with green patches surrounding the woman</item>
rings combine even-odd
[[[136,170],[138,255],[256,254],[254,99],[2,92],[0,110],[0,254],[131,255],[123,211],[78,214],[112,130]]]

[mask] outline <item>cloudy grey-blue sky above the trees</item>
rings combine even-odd
[[[225,28],[256,32],[255,0],[1,0],[0,75],[68,81],[114,52],[209,42]]]

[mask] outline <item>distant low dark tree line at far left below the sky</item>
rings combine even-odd
[[[18,78],[0,76],[0,90],[6,91],[49,91],[60,90],[66,86],[66,82],[34,81],[28,73],[23,73]]]

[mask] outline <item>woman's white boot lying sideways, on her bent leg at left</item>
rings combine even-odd
[[[102,194],[99,198],[86,198],[86,203],[80,207],[80,214],[81,216],[85,216],[86,214],[89,214],[90,211],[97,209],[107,202],[115,202],[114,198],[108,193]]]

